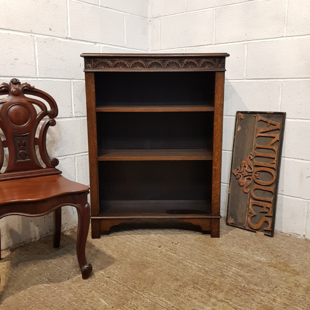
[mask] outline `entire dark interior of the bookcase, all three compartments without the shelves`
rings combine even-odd
[[[112,107],[96,112],[98,154],[181,149],[212,155],[212,110],[119,112],[117,107],[214,107],[214,80],[214,72],[199,71],[95,73],[96,107]],[[187,158],[98,161],[100,214],[210,214],[212,160]]]

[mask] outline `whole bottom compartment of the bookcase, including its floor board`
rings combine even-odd
[[[211,161],[99,162],[100,214],[209,214]]]

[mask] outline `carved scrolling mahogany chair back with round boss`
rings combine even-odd
[[[42,98],[49,104],[50,110],[42,101],[25,94]],[[54,118],[58,114],[55,100],[46,92],[28,83],[21,84],[15,78],[10,83],[0,84],[0,95],[7,95],[0,99],[0,128],[4,135],[4,140],[0,137],[0,169],[4,162],[4,148],[8,149],[7,167],[0,173],[0,181],[60,174],[61,171],[55,168],[58,159],[49,158],[46,149],[47,129],[55,126]],[[38,126],[46,116],[48,118],[36,137]],[[38,160],[36,146],[46,167]]]

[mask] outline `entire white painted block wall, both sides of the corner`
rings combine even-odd
[[[33,7],[36,10],[33,10]],[[18,77],[59,106],[48,150],[69,179],[89,183],[83,52],[228,52],[221,214],[236,110],[287,112],[276,229],[310,239],[308,0],[2,0],[0,82]],[[31,18],[30,18],[31,17]],[[63,208],[62,227],[76,224]],[[0,221],[2,248],[52,232],[52,217]]]

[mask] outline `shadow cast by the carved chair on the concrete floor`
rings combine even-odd
[[[114,263],[114,258],[86,242],[86,259],[93,270],[100,271]],[[53,247],[53,236],[12,249],[0,261],[0,304],[12,294],[39,284],[60,283],[80,277],[76,255],[76,230],[61,234],[60,247]],[[94,277],[91,273],[89,279]]]

